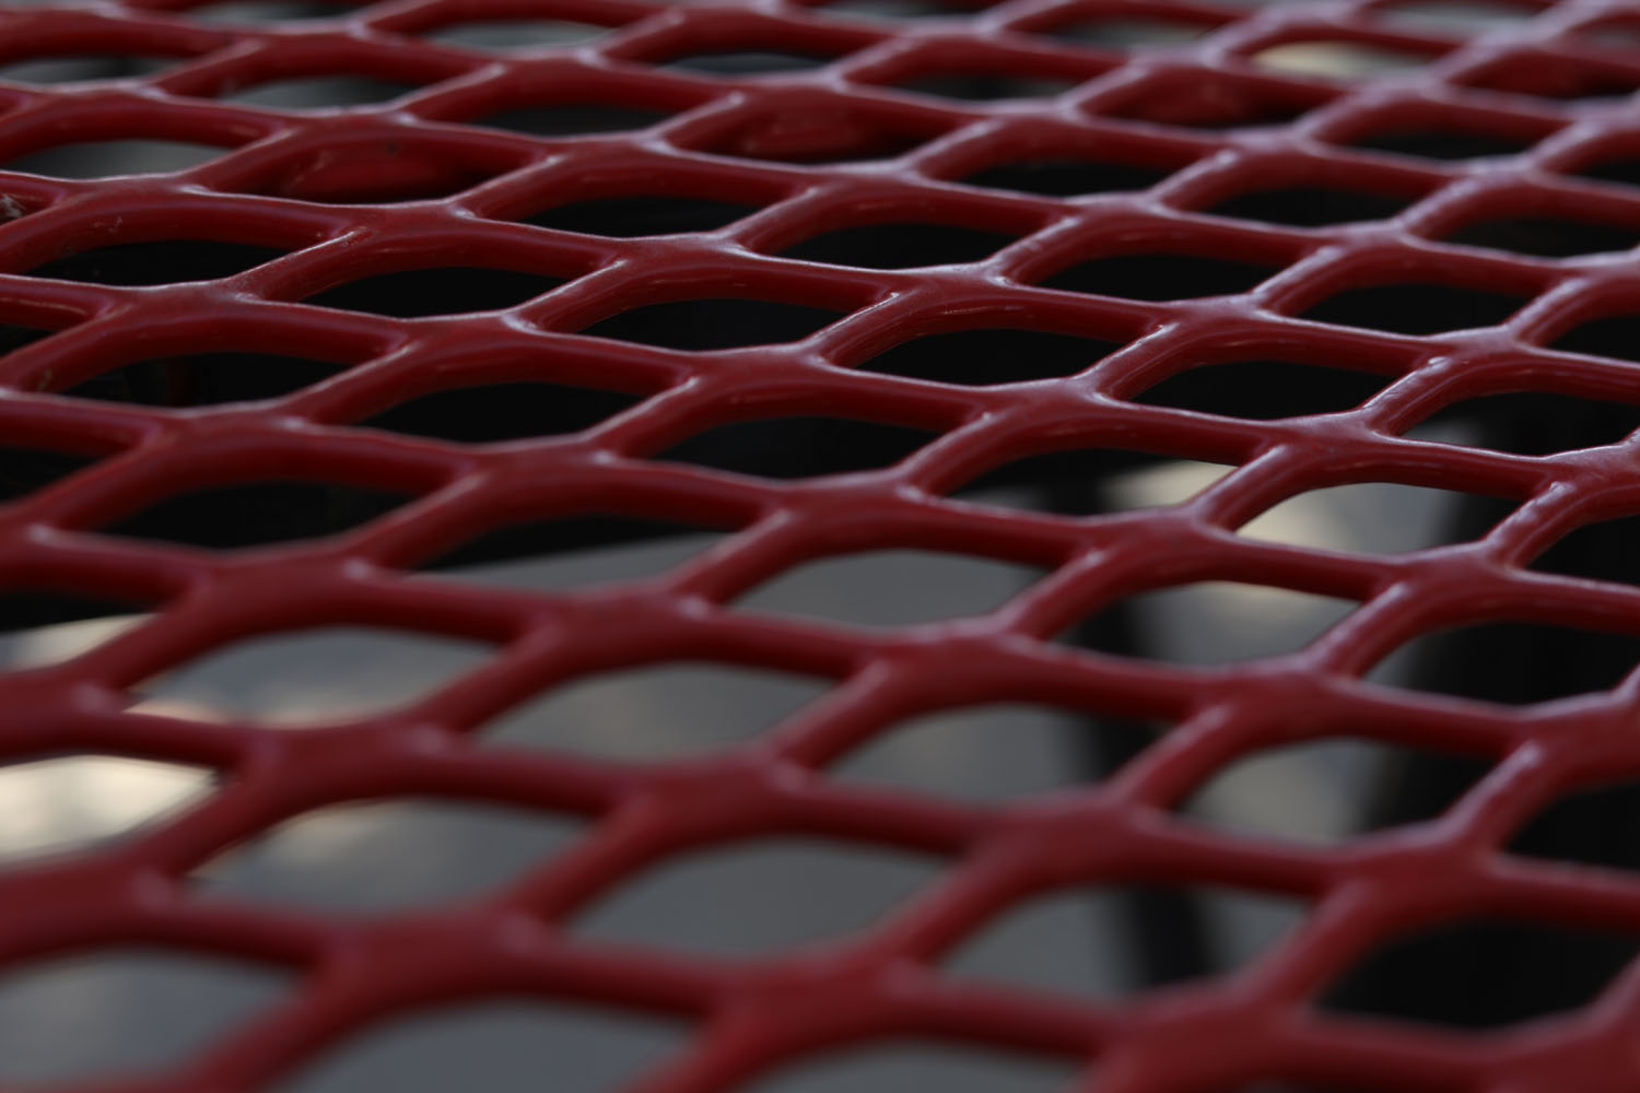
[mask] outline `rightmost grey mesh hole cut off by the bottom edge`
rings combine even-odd
[[[1077,1070],[1048,1055],[910,1041],[787,1064],[736,1093],[1063,1093]]]

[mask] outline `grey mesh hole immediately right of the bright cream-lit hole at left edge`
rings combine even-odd
[[[561,816],[395,798],[294,816],[194,872],[207,896],[380,914],[459,903],[553,859],[581,834]]]

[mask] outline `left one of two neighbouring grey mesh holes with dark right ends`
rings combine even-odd
[[[830,777],[976,805],[1086,785],[1158,728],[1056,706],[997,703],[891,724],[831,765]]]

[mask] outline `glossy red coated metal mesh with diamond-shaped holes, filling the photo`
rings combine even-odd
[[[394,1013],[497,993],[592,1000],[697,1019],[687,1052],[645,1090],[727,1090],[786,1060],[876,1037],[946,1037],[1087,1059],[1087,1088],[1230,1090],[1260,1078],[1409,1090],[1633,1090],[1640,970],[1589,1008],[1466,1037],[1317,1014],[1310,1000],[1378,942],[1432,923],[1515,916],[1632,927],[1640,887],[1528,864],[1501,839],[1568,787],[1640,767],[1630,677],[1615,690],[1507,710],[1363,683],[1392,649],[1484,619],[1640,634],[1640,592],[1527,572],[1569,529],[1640,508],[1633,442],[1550,457],[1402,439],[1435,408],[1496,390],[1640,403],[1625,362],[1547,349],[1591,318],[1640,306],[1612,254],[1540,259],[1443,244],[1487,216],[1640,224],[1640,195],[1571,177],[1640,149],[1620,98],[1640,54],[1583,33],[1622,5],[1561,3],[1461,41],[1389,23],[1373,3],[1273,7],[1018,0],[923,23],[795,3],[405,0],[289,25],[192,20],[179,3],[0,15],[0,54],[164,56],[151,75],[0,84],[0,157],[123,138],[220,144],[202,166],[59,180],[0,175],[0,320],[57,329],[0,359],[7,444],[97,462],[0,508],[0,578],[157,603],[144,626],[67,664],[0,675],[3,754],[115,752],[223,773],[208,801],[138,841],[5,878],[8,960],[153,942],[300,968],[287,1003],[179,1073],[121,1090],[249,1090]],[[1123,54],[1035,33],[1100,15],[1210,33]],[[418,34],[471,18],[610,25],[590,46],[487,56]],[[1422,54],[1361,84],[1260,69],[1271,44],[1346,41]],[[718,46],[835,61],[712,77],[649,59]],[[264,80],[361,74],[413,90],[379,107],[279,111],[215,97]],[[895,90],[930,74],[1063,85],[964,102]],[[1002,88],[1009,90],[1009,88]],[[1027,88],[1032,90],[1032,88]],[[1035,88],[1041,90],[1041,88]],[[538,138],[466,125],[592,102],[664,115],[643,129]],[[1512,143],[1512,157],[1412,159],[1351,147],[1387,129]],[[1148,190],[1059,200],[951,182],[1032,157],[1089,156],[1171,174]],[[354,172],[354,174],[349,174]],[[397,205],[323,203],[369,179]],[[453,182],[453,179],[456,179]],[[640,182],[643,185],[640,185]],[[1404,195],[1392,220],[1284,228],[1209,216],[1276,185]],[[399,193],[390,193],[399,188]],[[761,206],[664,239],[517,223],[584,197],[679,192]],[[876,270],[771,257],[823,229],[936,221],[1014,239],[966,265]],[[284,252],[220,280],[120,287],[30,277],[105,244],[218,239]],[[1086,259],[1187,254],[1269,267],[1245,295],[1143,302],[1040,287]],[[298,303],[359,277],[436,265],[564,283],[505,311],[397,320]],[[1438,283],[1519,297],[1499,326],[1404,336],[1297,318],[1346,288]],[[686,352],[585,336],[659,302],[759,298],[823,306],[804,341]],[[1507,308],[1506,308],[1507,310]],[[853,369],[928,333],[981,326],[1123,344],[1063,379],[964,387]],[[61,392],[141,356],[257,349],[354,367],[285,397],[192,410]],[[1279,354],[1383,374],[1366,405],[1243,421],[1127,401],[1187,367]],[[571,436],[461,446],[349,429],[407,397],[536,379],[643,401]],[[772,480],[646,457],[736,420],[818,415],[936,434],[861,474]],[[1189,503],[1068,518],[946,500],[1010,459],[1112,446],[1238,469]],[[1340,482],[1389,478],[1504,495],[1519,510],[1476,542],[1407,556],[1309,551],[1233,529]],[[313,478],[415,500],[341,536],[200,551],[97,534],[190,488]],[[656,580],[520,593],[408,578],[405,567],[508,521],[585,511],[736,528]],[[1000,610],[868,631],[735,610],[745,590],[815,557],[923,547],[1048,572]],[[1355,600],[1302,651],[1225,669],[1128,660],[1055,642],[1146,588],[1240,580]],[[476,637],[494,660],[413,706],[302,732],[128,713],[128,688],[231,639],[336,623]],[[594,670],[702,655],[838,678],[777,731],[713,757],[618,765],[469,749],[464,739],[544,688]],[[1102,785],[999,808],[828,782],[823,765],[912,711],[1035,700],[1176,723]],[[1256,747],[1348,732],[1501,757],[1443,818],[1340,849],[1230,837],[1169,818]],[[574,852],[505,891],[436,913],[330,919],[202,903],[187,873],[282,818],[358,798],[448,795],[587,818]],[[713,962],[566,939],[556,926],[686,849],[812,834],[943,855],[943,878],[871,931],[759,962]],[[1302,929],[1238,973],[1094,1005],[956,985],[936,962],[1022,900],[1064,887],[1205,882],[1312,901]],[[103,1086],[98,1086],[103,1088]]]

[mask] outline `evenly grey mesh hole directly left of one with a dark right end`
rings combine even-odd
[[[751,739],[830,687],[761,669],[646,665],[571,680],[487,724],[484,739],[597,759],[679,759]]]

